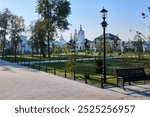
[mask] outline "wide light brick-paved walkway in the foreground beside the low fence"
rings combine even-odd
[[[0,60],[1,100],[150,99],[150,84],[101,89]]]

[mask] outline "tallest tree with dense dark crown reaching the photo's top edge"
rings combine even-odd
[[[50,41],[53,41],[57,29],[68,29],[68,15],[71,13],[70,2],[67,0],[38,0],[37,12],[45,21],[48,44],[48,57],[50,58]]]

